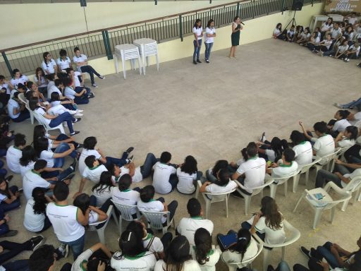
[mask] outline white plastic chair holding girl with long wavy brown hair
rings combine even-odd
[[[298,229],[293,227],[290,222],[286,219],[283,219],[283,229],[286,231],[286,241],[283,243],[271,244],[265,243],[262,239],[259,238],[257,234],[253,234],[253,237],[257,240],[258,243],[261,243],[264,246],[263,250],[263,270],[267,271],[267,267],[269,265],[269,261],[271,260],[271,253],[274,249],[267,248],[282,248],[282,260],[285,259],[286,246],[295,243],[298,239],[300,239],[301,233]]]

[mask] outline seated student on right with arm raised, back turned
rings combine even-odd
[[[314,133],[318,136],[318,138],[312,137],[312,134],[309,135],[309,131],[305,129],[305,126],[303,125],[302,121],[299,122],[303,134],[305,135],[305,138],[311,141],[311,143],[314,143],[313,145],[313,154],[317,157],[325,157],[326,155],[331,155],[332,152],[335,151],[335,141],[334,138],[332,138],[331,135],[328,135],[327,132],[327,124],[324,121],[319,121],[314,124]],[[326,159],[322,159],[319,164],[325,164],[327,162]]]

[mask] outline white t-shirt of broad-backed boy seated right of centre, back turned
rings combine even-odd
[[[248,159],[237,169],[237,173],[245,174],[245,188],[248,193],[252,193],[252,188],[262,186],[266,176],[266,160],[260,157]]]

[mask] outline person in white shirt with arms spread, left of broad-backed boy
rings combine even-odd
[[[215,183],[206,181],[200,187],[200,193],[228,193],[237,187],[237,183],[230,179],[231,175],[228,169],[220,169],[218,171],[218,180]],[[224,198],[224,195],[207,195],[207,198]]]

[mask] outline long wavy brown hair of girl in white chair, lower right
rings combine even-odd
[[[283,217],[279,212],[279,207],[276,204],[276,200],[266,195],[262,198],[261,205],[261,212],[266,218],[267,227],[273,230],[281,229]]]

